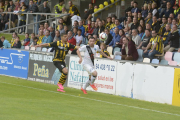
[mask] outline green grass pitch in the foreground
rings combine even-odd
[[[180,120],[180,107],[0,76],[0,120]]]

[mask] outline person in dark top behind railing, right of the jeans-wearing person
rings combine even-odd
[[[44,1],[42,10],[39,11],[40,13],[51,13],[50,8],[47,6],[47,1]],[[40,21],[45,20],[48,15],[41,14]]]

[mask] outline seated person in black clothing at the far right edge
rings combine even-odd
[[[176,25],[173,25],[169,36],[169,42],[170,44],[164,48],[164,52],[172,52],[175,48],[179,48],[179,33]]]

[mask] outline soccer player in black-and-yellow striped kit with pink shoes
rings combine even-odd
[[[59,69],[59,71],[62,73],[59,82],[57,84],[59,92],[65,92],[64,91],[64,83],[66,82],[66,77],[68,74],[68,69],[66,68],[65,64],[65,57],[70,49],[78,49],[78,46],[74,46],[67,42],[67,34],[63,33],[61,34],[61,40],[52,42],[52,43],[45,43],[37,45],[36,47],[54,47],[55,54],[53,63],[54,65]]]

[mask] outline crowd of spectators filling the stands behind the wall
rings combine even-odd
[[[11,1],[10,1],[11,2]],[[9,2],[9,3],[10,3]],[[17,2],[19,4],[19,2]],[[16,4],[17,4],[16,3]],[[22,2],[21,2],[22,3]],[[37,2],[29,1],[29,6],[22,5],[22,8],[17,15],[20,15],[24,24],[24,11],[37,12]],[[47,8],[47,2],[43,2],[44,9],[42,12],[50,12]],[[144,0],[143,7],[140,8],[136,1],[131,1],[131,6],[125,10],[125,16],[117,18],[115,15],[107,16],[106,20],[96,18],[91,21],[96,5],[89,3],[89,9],[84,11],[84,16],[80,15],[78,8],[73,5],[72,1],[68,2],[69,17],[72,20],[72,27],[67,26],[69,17],[57,19],[58,26],[54,28],[48,22],[37,25],[37,34],[25,34],[23,42],[17,37],[17,33],[13,33],[11,43],[8,43],[4,36],[1,41],[5,48],[21,48],[21,46],[35,46],[42,43],[50,43],[61,40],[61,34],[68,34],[68,42],[73,45],[87,45],[88,38],[93,36],[98,45],[107,55],[121,53],[122,59],[133,60],[138,59],[138,49],[143,50],[143,57],[155,58],[155,55],[163,52],[180,52],[180,11],[175,0]],[[11,3],[12,6],[12,3]],[[16,8],[16,5],[14,5]],[[20,5],[19,5],[20,6]],[[11,10],[9,7],[7,10]],[[54,7],[55,13],[67,13],[64,0],[59,0],[59,3]],[[1,11],[5,9],[1,8]],[[3,15],[3,14],[2,14]],[[6,15],[7,16],[7,15]],[[40,20],[44,19],[44,15],[40,16]],[[1,24],[3,22],[1,16]],[[34,17],[34,19],[37,17]],[[15,21],[12,21],[12,24]],[[4,22],[6,23],[6,22]],[[5,26],[6,27],[6,24]],[[69,29],[68,29],[69,28]],[[56,29],[56,30],[55,30]],[[21,32],[24,29],[21,28]],[[107,40],[102,42],[99,40],[100,33],[105,32],[108,36]],[[20,45],[21,43],[21,45]],[[0,45],[1,45],[0,44]],[[11,45],[9,45],[11,44]],[[108,53],[107,47],[112,47],[113,51],[116,47],[120,48],[117,53]],[[71,50],[72,54],[76,54]]]

